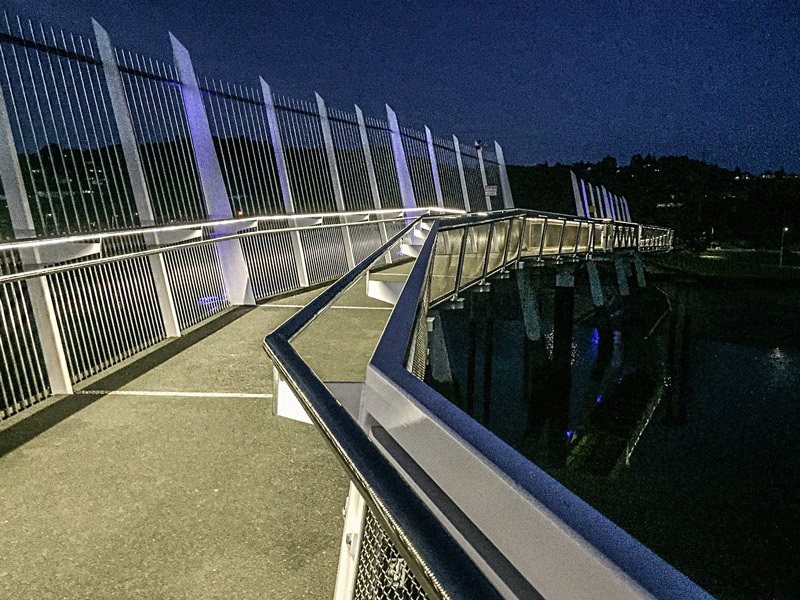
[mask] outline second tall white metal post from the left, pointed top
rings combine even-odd
[[[139,223],[144,226],[156,224],[153,213],[153,205],[150,199],[150,192],[147,189],[147,182],[144,177],[142,159],[139,155],[139,148],[136,144],[136,134],[133,131],[131,114],[128,111],[128,103],[125,98],[125,88],[122,84],[122,77],[119,74],[117,61],[114,57],[114,47],[108,32],[94,19],[92,19],[94,36],[97,40],[97,50],[100,54],[100,61],[103,64],[103,73],[108,87],[108,96],[111,100],[111,109],[114,114],[114,122],[119,132],[122,155],[125,159],[125,167],[128,170],[128,177],[131,182],[133,199],[136,202],[136,211],[139,213]],[[152,248],[158,246],[155,236],[148,236],[147,246]],[[178,322],[178,311],[175,310],[175,300],[172,296],[172,287],[169,284],[167,267],[164,263],[163,254],[152,254],[147,257],[150,263],[150,272],[153,275],[153,283],[156,288],[158,306],[161,309],[161,320],[164,324],[164,332],[167,337],[179,337],[181,328]]]

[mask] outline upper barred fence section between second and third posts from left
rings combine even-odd
[[[174,67],[119,49],[116,56],[156,222],[202,220],[200,176]]]

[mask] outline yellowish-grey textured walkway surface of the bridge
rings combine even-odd
[[[325,381],[364,378],[391,308],[364,289],[298,338]],[[231,309],[5,423],[0,598],[330,598],[348,480],[313,426],[272,415],[262,349],[317,293]]]

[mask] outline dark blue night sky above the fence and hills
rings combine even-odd
[[[688,154],[800,172],[800,2],[12,1],[11,13],[401,124],[514,164]]]

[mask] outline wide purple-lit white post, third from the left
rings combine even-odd
[[[206,212],[210,219],[230,219],[233,217],[228,191],[222,178],[222,170],[211,138],[211,128],[208,124],[208,115],[203,105],[200,86],[194,72],[189,51],[178,39],[169,34],[172,43],[172,55],[175,68],[178,71],[178,80],[181,84],[181,96],[186,108],[186,119],[189,122],[189,133],[192,136],[197,171],[200,175],[200,185],[203,189],[203,200]],[[234,230],[235,231],[235,230]],[[214,235],[232,233],[230,230],[222,231],[215,228]],[[244,253],[239,240],[227,240],[217,245],[222,279],[228,300],[231,304],[254,305],[255,296],[250,285],[250,273],[244,260]]]

